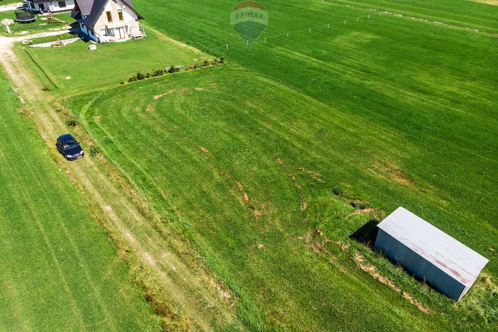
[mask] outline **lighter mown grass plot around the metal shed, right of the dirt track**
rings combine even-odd
[[[422,148],[401,132],[230,65],[77,96],[68,107],[234,291],[249,331],[496,328],[493,282],[455,304],[350,239],[404,206],[497,257],[494,221],[454,209],[458,200],[407,161]],[[462,191],[491,191],[493,176],[476,174]],[[339,185],[380,211],[350,215],[333,194]],[[430,315],[362,271],[357,251]],[[495,266],[485,269],[492,280]]]

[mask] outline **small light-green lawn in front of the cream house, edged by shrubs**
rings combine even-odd
[[[78,40],[64,47],[19,46],[17,53],[36,70],[34,59],[44,72],[42,76],[49,78],[45,77],[47,86],[64,97],[117,86],[137,72],[152,74],[171,65],[200,65],[206,56],[147,27],[145,31],[147,38],[99,44],[94,51],[88,50],[90,43]]]

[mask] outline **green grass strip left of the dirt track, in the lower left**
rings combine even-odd
[[[160,331],[3,77],[0,104],[0,330]]]

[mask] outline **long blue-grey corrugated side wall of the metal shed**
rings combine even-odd
[[[437,268],[434,264],[411,250],[382,229],[379,229],[375,248],[385,252],[387,257],[404,266],[417,278],[426,280],[441,293],[458,301],[465,286]]]

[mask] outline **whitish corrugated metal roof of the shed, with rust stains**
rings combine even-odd
[[[377,226],[467,287],[472,286],[489,262],[486,257],[401,207]]]

